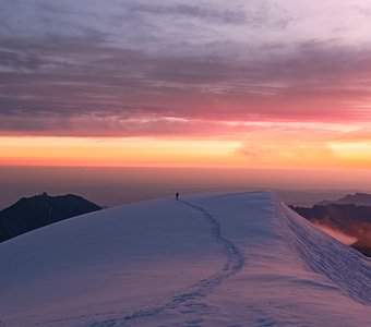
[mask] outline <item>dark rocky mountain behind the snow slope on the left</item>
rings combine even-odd
[[[98,205],[73,194],[49,196],[44,193],[28,198],[23,197],[0,211],[0,242],[60,220],[100,209]]]

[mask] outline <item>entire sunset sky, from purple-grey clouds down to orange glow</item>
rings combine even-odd
[[[0,166],[371,171],[370,31],[364,0],[2,0]]]

